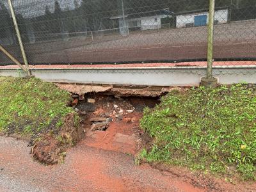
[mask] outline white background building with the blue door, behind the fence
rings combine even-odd
[[[206,26],[209,19],[208,10],[196,10],[192,12],[182,12],[176,15],[176,27],[188,28],[197,26]],[[215,24],[228,22],[228,8],[217,9],[214,15]]]

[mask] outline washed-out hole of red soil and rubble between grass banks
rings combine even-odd
[[[76,106],[78,113],[86,113],[81,115],[81,125],[86,133],[84,143],[90,147],[135,155],[148,138],[140,129],[143,108],[152,108],[158,102],[158,98],[86,95],[84,101]]]

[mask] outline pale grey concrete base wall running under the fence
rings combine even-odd
[[[31,68],[33,76],[56,83],[198,86],[206,67],[145,68]],[[17,68],[0,68],[0,76],[22,77]],[[214,67],[220,84],[256,83],[255,66]]]

